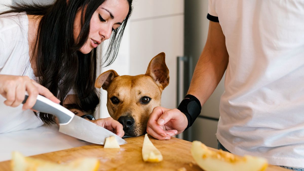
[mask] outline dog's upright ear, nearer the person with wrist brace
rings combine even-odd
[[[162,86],[162,89],[167,87],[169,84],[169,70],[165,62],[164,52],[156,55],[150,61],[146,75],[150,75],[152,79],[154,79],[154,81],[157,83],[157,85]]]

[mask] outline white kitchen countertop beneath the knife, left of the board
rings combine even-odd
[[[58,129],[57,125],[43,125],[35,129],[0,134],[0,162],[10,160],[12,151],[30,156],[91,144],[62,134]]]

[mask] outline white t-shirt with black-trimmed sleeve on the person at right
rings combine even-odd
[[[230,152],[304,168],[304,1],[209,0],[229,63],[216,137]]]

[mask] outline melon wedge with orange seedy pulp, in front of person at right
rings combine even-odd
[[[200,141],[193,141],[191,153],[196,163],[205,171],[263,171],[267,160],[245,155],[240,157],[229,152],[209,150]]]

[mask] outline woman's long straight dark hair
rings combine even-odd
[[[129,2],[129,12],[122,25],[112,32],[103,62],[105,66],[116,59],[123,31],[132,12],[132,0],[126,1]],[[9,6],[9,11],[1,13],[26,12],[29,15],[42,15],[37,36],[39,43],[34,49],[37,54],[37,72],[40,75],[38,81],[60,99],[61,105],[67,93],[74,89],[78,96],[78,103],[74,106],[89,113],[93,113],[99,103],[98,92],[94,87],[96,48],[89,54],[82,54],[78,50],[87,41],[91,17],[103,2],[105,0],[57,0],[51,5],[21,3]],[[73,26],[78,9],[82,9],[81,31],[79,41],[74,42]],[[40,113],[39,117],[46,124],[54,123],[53,115]]]

